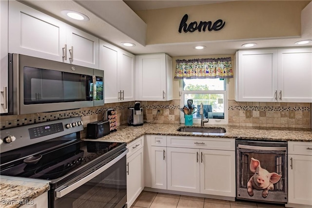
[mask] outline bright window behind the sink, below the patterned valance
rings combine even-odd
[[[181,107],[187,106],[187,100],[193,100],[193,122],[200,123],[200,104],[203,103],[204,118],[209,118],[209,124],[227,124],[227,95],[224,79],[182,79]],[[184,123],[184,113],[181,114]]]

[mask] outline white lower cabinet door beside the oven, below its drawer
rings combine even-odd
[[[144,189],[143,148],[127,158],[127,205],[130,208]]]

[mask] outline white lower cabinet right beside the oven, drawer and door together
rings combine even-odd
[[[136,139],[127,148],[127,206],[130,208],[144,189],[143,172],[143,136]]]

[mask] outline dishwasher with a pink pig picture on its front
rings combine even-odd
[[[236,198],[287,203],[287,142],[236,140]]]

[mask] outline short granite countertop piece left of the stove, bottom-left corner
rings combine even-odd
[[[50,189],[49,181],[0,176],[0,208],[18,208]]]

